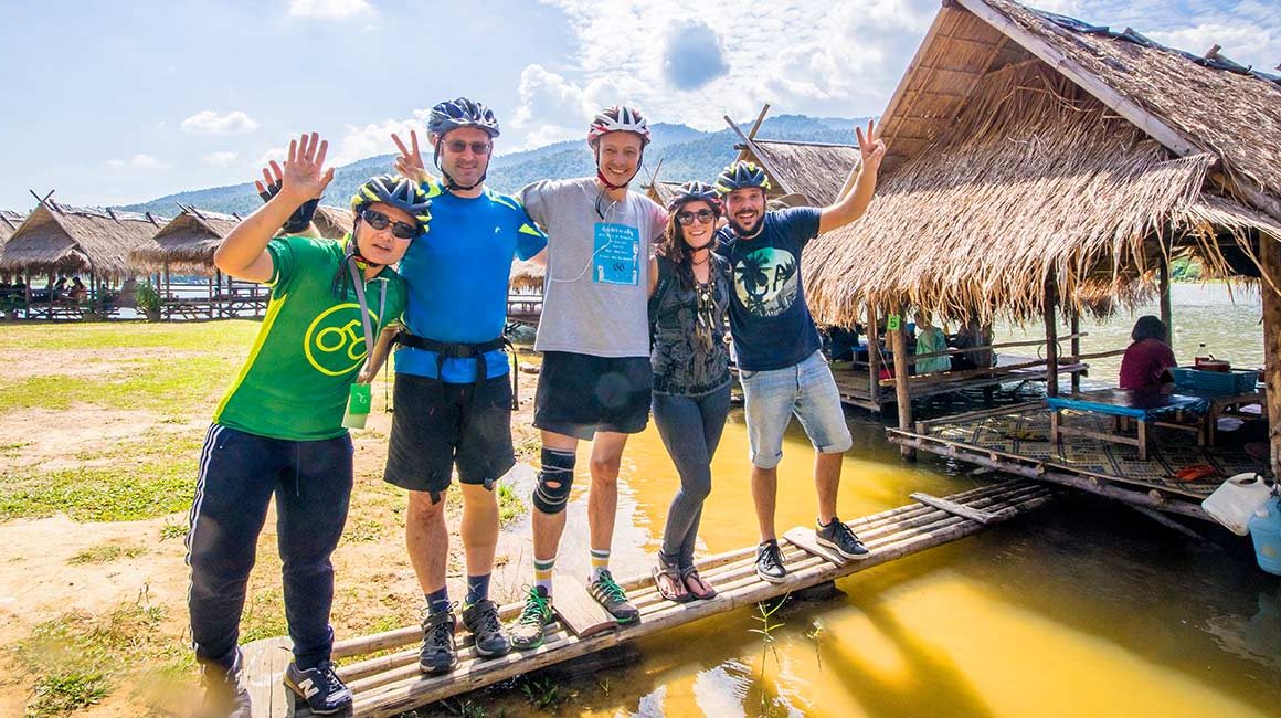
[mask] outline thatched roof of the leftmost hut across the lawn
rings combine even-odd
[[[0,249],[0,271],[135,273],[129,253],[168,219],[109,209],[85,209],[45,200]]]

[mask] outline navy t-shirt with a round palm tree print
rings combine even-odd
[[[766,212],[765,227],[751,240],[721,228],[716,253],[729,260],[734,277],[729,327],[739,369],[784,369],[819,351],[819,330],[801,282],[801,250],[819,236],[820,212]]]

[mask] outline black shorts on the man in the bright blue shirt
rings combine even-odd
[[[445,491],[459,481],[480,485],[516,463],[511,447],[511,377],[442,383],[396,374],[392,438],[383,480],[410,491]]]

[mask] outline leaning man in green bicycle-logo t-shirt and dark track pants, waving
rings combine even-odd
[[[232,277],[272,287],[249,360],[214,414],[191,508],[191,636],[206,686],[206,714],[247,718],[237,647],[245,589],[273,495],[293,662],[284,683],[313,713],[351,704],[330,663],[333,565],[352,486],[352,445],[342,426],[348,394],[374,332],[405,306],[391,269],[427,230],[429,201],[412,182],[377,177],[352,197],[343,241],[273,238],[310,224],[333,180],[328,142],[290,144],[278,190],[214,253]],[[270,182],[270,177],[268,181]]]

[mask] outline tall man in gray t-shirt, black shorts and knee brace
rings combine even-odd
[[[649,144],[639,112],[602,110],[587,142],[596,155],[596,177],[547,180],[521,191],[525,210],[548,241],[534,344],[543,353],[534,396],[534,426],[543,442],[533,496],[534,587],[511,631],[520,649],[542,645],[543,626],[551,621],[552,567],[579,440],[592,441],[588,592],[619,623],[640,617],[610,574],[608,562],[623,449],[628,435],[643,431],[649,418],[649,247],[667,215],[628,191]]]

